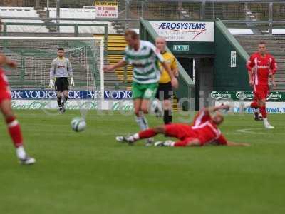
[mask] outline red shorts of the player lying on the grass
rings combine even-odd
[[[172,123],[165,125],[166,136],[175,137],[180,140],[186,138],[198,138],[197,133],[195,133],[191,126],[182,123]]]

